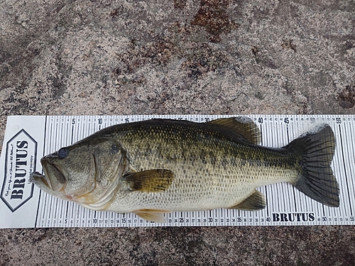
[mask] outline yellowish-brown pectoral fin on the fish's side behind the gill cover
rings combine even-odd
[[[170,170],[154,169],[133,172],[123,177],[131,192],[164,192],[173,182],[174,174]]]

